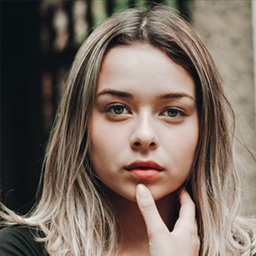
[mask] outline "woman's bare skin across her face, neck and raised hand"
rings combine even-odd
[[[147,44],[106,54],[92,111],[91,158],[120,222],[120,255],[198,255],[195,206],[179,190],[198,129],[195,84],[184,68]]]

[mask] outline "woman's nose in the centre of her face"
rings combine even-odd
[[[130,145],[135,150],[156,149],[159,141],[156,131],[153,129],[149,119],[143,119],[136,125],[130,138]]]

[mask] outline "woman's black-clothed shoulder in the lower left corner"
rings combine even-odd
[[[1,256],[47,256],[44,244],[37,242],[42,237],[39,229],[11,225],[1,230]]]

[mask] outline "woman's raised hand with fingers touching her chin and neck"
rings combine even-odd
[[[159,215],[150,191],[137,186],[136,198],[145,220],[150,256],[197,256],[200,240],[197,234],[195,204],[184,189],[180,194],[179,218],[170,232]]]

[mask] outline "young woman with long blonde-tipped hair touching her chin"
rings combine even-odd
[[[114,15],[75,57],[41,199],[27,216],[5,209],[2,255],[255,255],[233,136],[190,24],[164,7]]]

